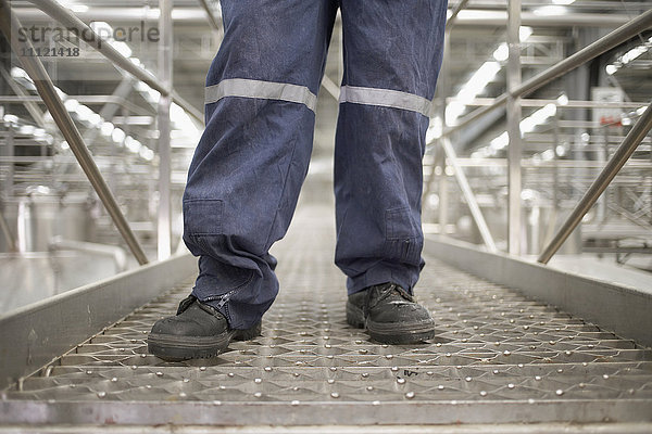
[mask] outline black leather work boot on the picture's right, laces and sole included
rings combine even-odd
[[[366,328],[371,337],[383,344],[414,344],[435,337],[430,312],[391,282],[349,295],[347,322]]]

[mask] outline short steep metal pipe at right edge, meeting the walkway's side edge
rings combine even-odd
[[[634,151],[638,148],[639,143],[650,132],[652,128],[652,103],[648,105],[648,108],[643,112],[642,116],[638,119],[636,125],[631,128],[623,143],[618,146],[612,158],[604,166],[598,178],[593,181],[589,190],[581,197],[573,213],[568,216],[566,221],[562,225],[556,235],[543,250],[543,253],[537,259],[539,263],[548,264],[550,258],[560,250],[564,241],[570,235],[570,233],[577,228],[582,217],[598,201],[600,195],[609,187],[610,182],[618,174],[620,168],[627,163],[627,159],[634,154]]]

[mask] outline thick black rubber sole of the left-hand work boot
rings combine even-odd
[[[150,333],[147,337],[147,349],[150,354],[166,361],[208,359],[224,353],[231,341],[249,341],[260,335],[260,322],[251,329],[227,330],[215,336]]]

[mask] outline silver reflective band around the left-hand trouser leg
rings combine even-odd
[[[250,80],[248,78],[227,78],[217,85],[206,87],[205,103],[217,102],[225,97],[259,98],[280,100],[304,104],[315,111],[317,97],[305,86],[285,82]]]

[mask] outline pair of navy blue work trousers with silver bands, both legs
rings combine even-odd
[[[336,264],[350,293],[389,280],[411,290],[423,267],[421,159],[446,0],[223,0],[225,37],[206,78],[184,240],[200,257],[193,294],[236,329],[258,321],[278,292],[268,251],[287,231],[308,171],[338,4]]]

